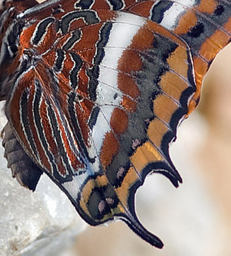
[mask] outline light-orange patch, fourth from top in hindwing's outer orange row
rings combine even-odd
[[[162,139],[167,131],[168,128],[165,123],[160,121],[160,119],[155,118],[151,123],[149,123],[147,135],[151,142],[153,142],[157,148],[160,148]]]

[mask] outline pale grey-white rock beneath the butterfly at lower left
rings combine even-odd
[[[0,128],[5,123],[1,112]],[[66,195],[45,174],[34,193],[21,187],[7,168],[2,146],[0,164],[0,255],[64,253],[86,227]]]

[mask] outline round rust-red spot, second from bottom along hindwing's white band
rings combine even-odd
[[[124,133],[128,126],[128,117],[124,110],[115,108],[111,114],[110,125],[115,134],[120,135]]]

